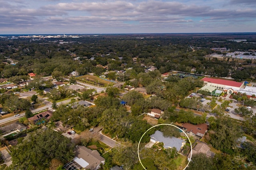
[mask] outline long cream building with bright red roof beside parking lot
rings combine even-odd
[[[204,77],[201,80],[204,81],[204,85],[212,86],[216,89],[221,89],[230,94],[237,93],[243,86],[243,82],[236,82],[232,80],[214,79],[210,77]]]

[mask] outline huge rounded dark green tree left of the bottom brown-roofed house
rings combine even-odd
[[[11,150],[12,169],[44,170],[49,168],[52,159],[66,163],[74,158],[70,139],[54,130],[37,130]]]

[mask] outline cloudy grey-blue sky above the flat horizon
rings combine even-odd
[[[256,32],[256,0],[0,0],[0,34]]]

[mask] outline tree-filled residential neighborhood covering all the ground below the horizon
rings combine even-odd
[[[0,38],[0,169],[255,169],[255,61],[187,36]]]

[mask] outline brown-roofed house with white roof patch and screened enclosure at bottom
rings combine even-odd
[[[90,150],[85,146],[76,146],[76,157],[64,165],[66,170],[98,170],[105,159],[97,150]]]

